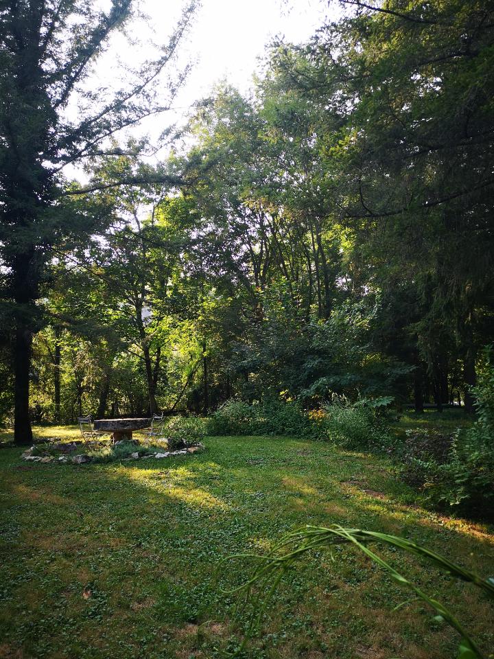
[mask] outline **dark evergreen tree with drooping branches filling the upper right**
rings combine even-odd
[[[493,6],[341,3],[353,12],[306,47],[279,48],[277,66],[325,108],[321,154],[337,165],[355,254],[373,264],[377,286],[393,286],[399,270],[399,286],[415,288],[417,349],[432,378],[444,375],[439,336],[458,344],[471,411],[494,309]]]

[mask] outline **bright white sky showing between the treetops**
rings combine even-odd
[[[145,18],[132,21],[123,34],[112,37],[106,53],[95,64],[89,86],[125,86],[128,67],[138,69],[139,62],[152,57],[156,47],[167,43],[186,1],[141,0],[139,8]],[[109,0],[99,3],[108,9]],[[259,58],[272,38],[283,36],[292,43],[306,41],[327,16],[336,16],[335,5],[331,3],[328,8],[328,0],[202,0],[189,33],[179,46],[179,64],[192,62],[193,67],[172,103],[174,111],[146,119],[132,132],[119,134],[119,141],[149,135],[151,143],[156,144],[167,126],[185,124],[193,103],[209,95],[218,82],[226,80],[242,93],[248,92],[253,74],[259,71]],[[78,111],[78,100],[74,99],[68,114]],[[161,150],[151,160],[163,155]],[[86,179],[82,170],[72,167],[65,174],[75,175],[81,181]]]

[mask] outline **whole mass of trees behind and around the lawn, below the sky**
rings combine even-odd
[[[198,103],[155,167],[117,133],[168,106],[176,82],[165,102],[154,83],[193,7],[110,95],[82,80],[130,2],[4,4],[0,405],[15,401],[16,441],[30,418],[232,397],[473,409],[494,338],[491,3],[343,0],[308,43],[270,47],[252,95],[222,84]],[[81,159],[84,186],[61,174]]]

